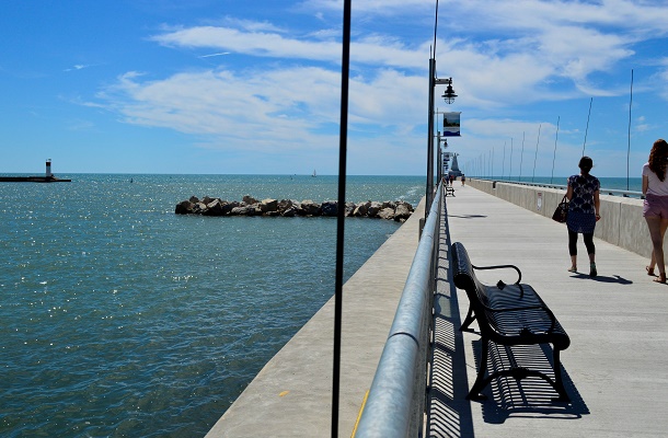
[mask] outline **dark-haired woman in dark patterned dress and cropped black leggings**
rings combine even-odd
[[[594,245],[594,229],[596,222],[601,218],[599,215],[600,200],[599,191],[601,183],[596,176],[589,174],[594,161],[589,157],[583,157],[578,164],[579,175],[568,177],[568,252],[571,253],[572,273],[577,272],[577,234],[583,234],[587,254],[589,255],[589,276],[596,277],[596,247]]]

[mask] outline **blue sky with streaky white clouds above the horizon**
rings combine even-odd
[[[352,11],[348,174],[426,175],[433,50],[469,175],[565,176],[585,153],[640,177],[668,137],[664,0]],[[4,0],[0,35],[2,173],[337,173],[339,0]]]

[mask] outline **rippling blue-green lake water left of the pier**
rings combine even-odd
[[[173,212],[336,199],[334,176],[58,176],[0,184],[0,436],[201,437],[334,292],[334,218]],[[425,180],[347,185],[415,206]],[[399,226],[346,219],[345,277]]]

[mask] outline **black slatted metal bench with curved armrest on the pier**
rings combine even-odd
[[[469,297],[469,313],[460,330],[470,330],[471,323],[477,321],[482,341],[482,355],[475,383],[468,400],[485,400],[481,391],[495,378],[510,376],[521,380],[527,377],[539,377],[552,385],[558,393],[553,400],[569,402],[561,374],[560,353],[571,345],[568,335],[558,323],[554,313],[535,290],[520,284],[521,272],[515,265],[475,266],[471,264],[464,245],[456,242],[451,246],[451,261],[454,285],[465,290]],[[475,277],[476,269],[511,268],[518,279],[511,285],[498,281],[496,286],[482,284]],[[552,368],[554,379],[544,372],[521,366],[500,369],[485,378],[490,356],[490,343],[503,346],[516,345],[552,345]]]

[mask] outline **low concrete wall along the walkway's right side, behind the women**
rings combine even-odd
[[[552,219],[552,214],[566,194],[563,189],[484,180],[467,180],[467,184],[548,219]],[[643,200],[610,195],[601,195],[600,200],[601,220],[596,224],[594,235],[649,258],[652,242],[643,218]]]

